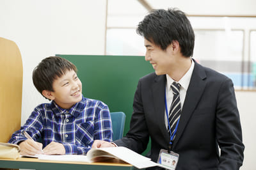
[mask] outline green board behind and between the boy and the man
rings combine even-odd
[[[110,112],[126,114],[124,134],[129,130],[132,102],[140,77],[154,72],[144,56],[62,55],[77,66],[83,95],[101,100]]]

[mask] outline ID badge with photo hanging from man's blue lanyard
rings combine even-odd
[[[177,166],[179,160],[179,154],[171,151],[168,153],[167,150],[160,150],[159,157],[157,160],[158,164],[161,164],[161,167],[165,167],[166,169],[174,170]]]

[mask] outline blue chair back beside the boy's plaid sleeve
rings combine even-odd
[[[111,112],[110,116],[113,128],[113,141],[115,141],[123,137],[126,116],[124,112]]]

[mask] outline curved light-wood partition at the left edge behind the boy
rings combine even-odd
[[[0,37],[0,142],[20,128],[22,59],[15,42]]]

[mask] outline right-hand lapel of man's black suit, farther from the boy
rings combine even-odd
[[[175,140],[173,141],[173,147],[179,143],[180,136],[182,135],[184,128],[186,127],[189,118],[193,114],[197,103],[199,102],[201,95],[205,88],[206,78],[205,70],[202,66],[195,62],[195,67],[191,80],[189,82],[188,91],[186,93],[186,98],[182,107],[182,112],[180,115],[179,128],[177,129],[177,134]]]

